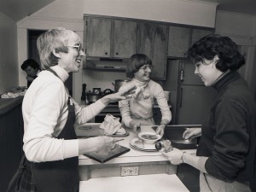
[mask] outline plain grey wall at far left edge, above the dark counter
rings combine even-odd
[[[16,22],[0,12],[0,94],[18,86]]]

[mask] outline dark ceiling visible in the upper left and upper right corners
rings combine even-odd
[[[32,15],[55,0],[1,0],[0,12],[18,21]],[[202,0],[219,3],[217,9],[241,14],[256,15],[255,0]]]

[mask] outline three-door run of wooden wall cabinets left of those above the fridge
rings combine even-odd
[[[153,61],[153,79],[165,79],[168,28],[156,23],[84,17],[88,64],[104,59],[128,59],[135,53]],[[96,60],[96,61],[95,61]],[[112,63],[113,64],[113,63]],[[87,65],[89,66],[89,65]]]

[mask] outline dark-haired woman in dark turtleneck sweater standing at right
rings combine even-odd
[[[178,149],[163,155],[174,165],[198,169],[202,192],[251,191],[249,183],[255,191],[249,181],[255,177],[256,106],[246,81],[236,72],[245,64],[244,55],[230,38],[215,34],[195,42],[189,58],[195,74],[218,96],[201,128],[183,132],[185,139],[201,136],[196,156]]]

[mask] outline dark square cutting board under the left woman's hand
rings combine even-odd
[[[89,157],[92,160],[96,160],[100,163],[105,163],[108,160],[112,160],[115,157],[118,157],[121,154],[125,154],[129,152],[130,148],[125,148],[124,146],[121,146],[119,144],[116,144],[115,148],[113,148],[109,153],[106,152],[90,152],[84,154],[86,157]]]

